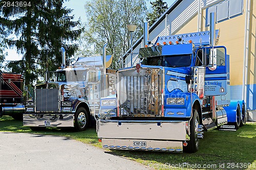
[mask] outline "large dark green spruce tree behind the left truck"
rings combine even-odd
[[[14,6],[3,6],[14,2]],[[77,50],[77,40],[82,29],[74,30],[80,20],[73,21],[71,9],[62,7],[64,0],[2,1],[0,24],[7,34],[15,33],[17,39],[5,39],[10,47],[16,47],[23,55],[21,61],[10,61],[7,67],[12,72],[23,74],[25,85],[43,77],[48,65],[55,70],[61,65],[61,46],[65,47],[67,59]],[[26,6],[25,6],[26,3]]]

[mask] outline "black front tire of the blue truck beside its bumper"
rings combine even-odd
[[[183,146],[183,152],[195,153],[199,148],[199,138],[197,137],[198,125],[199,125],[199,115],[196,109],[193,109],[193,117],[190,120],[190,140],[187,141],[187,146]]]

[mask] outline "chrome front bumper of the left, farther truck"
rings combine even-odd
[[[24,113],[23,126],[74,127],[74,113]]]

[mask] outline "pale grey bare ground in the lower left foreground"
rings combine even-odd
[[[0,169],[152,169],[66,137],[0,132]]]

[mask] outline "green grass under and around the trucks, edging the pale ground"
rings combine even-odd
[[[101,147],[95,128],[89,128],[84,132],[60,128],[32,132],[30,128],[24,127],[21,121],[3,116],[0,117],[0,131],[66,136]],[[106,152],[127,157],[155,169],[256,169],[255,145],[256,123],[247,123],[238,131],[205,132],[204,139],[200,140],[199,151],[194,154],[122,150]]]

